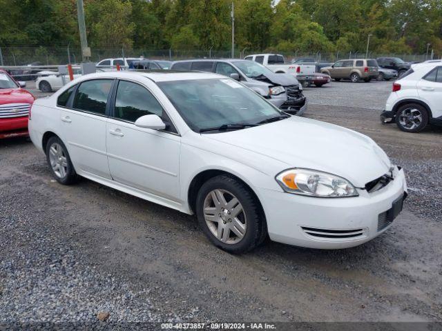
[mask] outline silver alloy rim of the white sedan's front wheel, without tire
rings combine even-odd
[[[222,243],[239,243],[247,230],[247,218],[240,201],[227,190],[212,190],[204,199],[204,220]]]

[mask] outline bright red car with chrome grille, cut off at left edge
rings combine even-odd
[[[0,139],[28,135],[28,114],[35,97],[0,70]]]

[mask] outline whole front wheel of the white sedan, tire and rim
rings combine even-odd
[[[213,177],[202,185],[196,214],[206,237],[227,252],[247,252],[267,237],[256,197],[246,185],[229,175]]]

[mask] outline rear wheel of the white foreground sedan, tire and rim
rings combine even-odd
[[[70,161],[68,150],[59,137],[51,137],[46,144],[46,160],[52,176],[61,184],[69,185],[77,181],[77,173]]]

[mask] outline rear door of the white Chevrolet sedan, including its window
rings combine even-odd
[[[114,79],[90,79],[61,108],[64,142],[79,174],[111,179],[106,157],[106,121]]]

